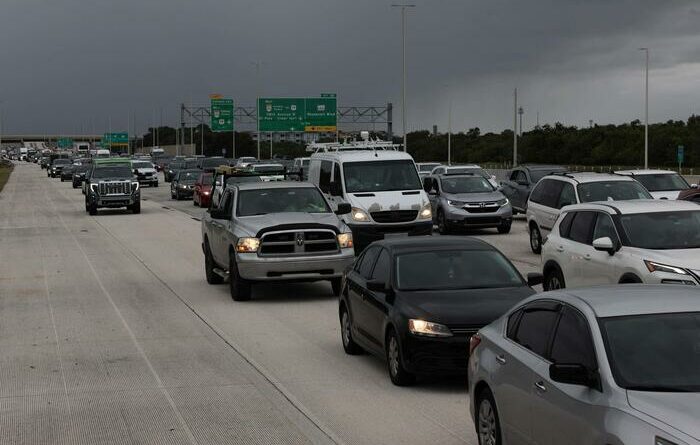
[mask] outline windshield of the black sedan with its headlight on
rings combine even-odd
[[[399,255],[396,281],[401,290],[519,287],[520,273],[492,250],[439,250]]]

